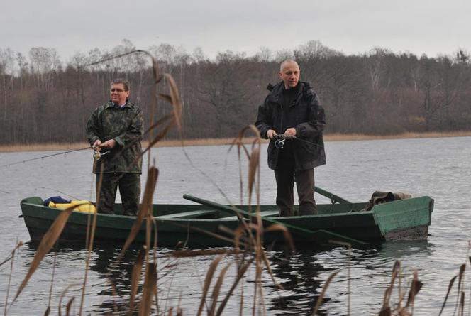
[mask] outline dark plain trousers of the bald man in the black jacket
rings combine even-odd
[[[292,163],[279,164],[275,170],[279,216],[293,216],[294,182],[298,190],[299,215],[317,214],[314,200],[314,169],[294,172]]]

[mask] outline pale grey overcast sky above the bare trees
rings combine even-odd
[[[469,0],[3,0],[0,48],[111,49],[123,38],[139,49],[170,43],[253,55],[309,40],[346,54],[374,47],[430,57],[471,51]]]

